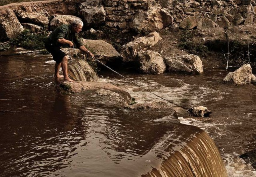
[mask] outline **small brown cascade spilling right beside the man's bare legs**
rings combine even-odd
[[[85,60],[72,59],[68,65],[68,74],[76,81],[98,81],[96,72]]]

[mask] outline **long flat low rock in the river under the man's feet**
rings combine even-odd
[[[60,87],[68,93],[85,93],[94,91],[102,100],[111,100],[115,103],[127,105],[131,102],[131,95],[107,82],[62,82]]]

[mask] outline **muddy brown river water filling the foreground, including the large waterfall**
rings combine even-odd
[[[197,76],[118,71],[161,97],[213,112],[210,121],[178,121],[60,93],[49,60],[0,56],[1,177],[256,177],[239,158],[256,149],[256,86],[224,84],[228,71],[216,68]],[[110,71],[102,75],[137,103],[161,101]]]

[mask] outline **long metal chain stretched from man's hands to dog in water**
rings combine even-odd
[[[74,50],[74,47],[73,47],[73,50]],[[76,51],[74,50],[74,52],[76,52]],[[77,53],[76,53],[76,56],[79,58],[79,56],[77,55]],[[167,101],[167,102],[169,102],[169,103],[172,103],[172,104],[174,104],[174,105],[176,105],[176,106],[178,106],[178,107],[182,107],[182,108],[184,108],[184,109],[190,109],[190,108],[188,108],[188,107],[184,107],[184,106],[182,106],[182,105],[179,105],[179,104],[177,104],[177,103],[174,103],[173,101],[170,101],[170,100],[168,100],[168,99],[165,99],[165,98],[163,98],[163,97],[161,97],[161,96],[159,96],[159,95],[156,95],[156,93],[153,93],[152,91],[149,91],[148,89],[143,88],[142,86],[138,85],[136,82],[133,82],[132,80],[130,80],[130,79],[128,79],[128,78],[122,76],[122,75],[119,74],[118,72],[114,71],[112,68],[109,68],[108,66],[106,66],[104,63],[100,62],[100,60],[96,59],[95,57],[93,57],[93,58],[94,58],[94,60],[96,60],[97,62],[99,62],[100,64],[102,64],[103,66],[105,66],[106,68],[108,68],[109,70],[111,70],[112,72],[116,73],[118,76],[121,76],[122,78],[126,79],[128,82],[131,82],[132,84],[134,84],[134,85],[136,85],[136,86],[142,88],[144,91],[148,91],[148,92],[151,93],[152,95],[155,95],[156,97],[159,97],[159,98],[163,99],[164,101]],[[79,58],[79,59],[82,60],[81,58]]]

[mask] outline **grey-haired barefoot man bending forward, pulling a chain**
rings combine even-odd
[[[68,45],[69,47],[79,48],[85,54],[91,57],[94,55],[82,44],[78,38],[78,33],[82,30],[83,22],[74,20],[71,24],[64,24],[56,28],[45,42],[45,48],[52,54],[52,58],[56,61],[54,67],[54,77],[60,78],[59,70],[62,68],[64,81],[75,82],[68,77],[68,56],[60,50],[60,47]]]

